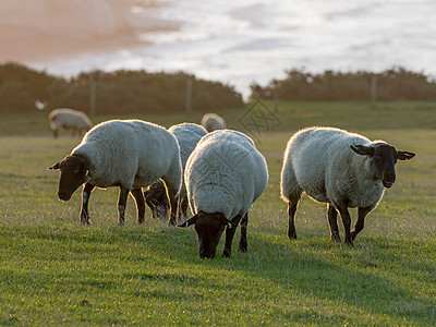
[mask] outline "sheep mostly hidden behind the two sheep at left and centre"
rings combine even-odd
[[[198,141],[207,134],[207,131],[194,123],[181,123],[173,125],[168,129],[179,142],[180,158],[182,161],[182,187],[180,190],[179,198],[179,213],[181,216],[186,216],[187,198],[186,189],[183,181],[183,171],[186,166],[187,157],[194,150]],[[148,190],[144,192],[146,204],[150,207],[153,217],[167,216],[168,199],[166,196],[165,185],[160,180],[155,181],[148,186]]]

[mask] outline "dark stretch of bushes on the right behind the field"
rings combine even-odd
[[[310,73],[304,69],[286,72],[283,80],[262,86],[253,83],[252,99],[280,100],[436,100],[436,81],[424,73],[393,66],[380,73],[368,71]]]

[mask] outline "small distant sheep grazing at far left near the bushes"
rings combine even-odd
[[[58,132],[62,129],[71,130],[72,136],[74,136],[75,132],[84,133],[94,126],[84,112],[66,108],[52,110],[48,120],[55,137],[58,137]]]

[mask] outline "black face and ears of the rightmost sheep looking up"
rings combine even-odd
[[[370,157],[370,173],[376,180],[382,181],[383,185],[387,189],[391,187],[395,183],[395,165],[397,164],[397,159],[409,160],[415,156],[413,153],[398,152],[393,146],[386,143],[373,146],[352,145],[350,147],[354,153]]]

